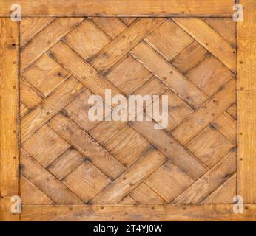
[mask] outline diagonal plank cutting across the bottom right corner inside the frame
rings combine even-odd
[[[236,170],[236,149],[233,149],[223,159],[207,171],[198,181],[195,181],[172,204],[198,204],[210,193],[223,184]]]

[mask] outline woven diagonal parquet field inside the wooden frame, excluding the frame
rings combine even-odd
[[[24,204],[232,202],[232,19],[24,18],[20,39]],[[90,122],[105,89],[167,94],[168,127]]]

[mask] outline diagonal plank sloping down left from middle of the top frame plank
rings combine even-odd
[[[150,32],[160,26],[165,18],[140,18],[130,27],[121,32],[110,44],[104,47],[98,55],[92,59],[91,64],[101,73],[107,72],[111,66],[118,62],[140,41],[146,38]]]

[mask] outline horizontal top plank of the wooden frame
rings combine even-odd
[[[2,0],[0,16],[10,16],[11,1]],[[33,16],[232,16],[233,0],[20,0],[22,15]]]

